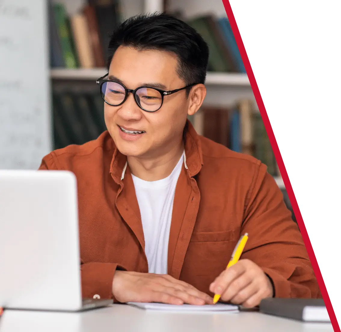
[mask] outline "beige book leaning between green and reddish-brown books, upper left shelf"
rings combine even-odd
[[[93,68],[95,61],[90,44],[87,19],[84,14],[76,13],[71,16],[70,22],[80,67]]]

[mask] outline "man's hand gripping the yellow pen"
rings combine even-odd
[[[247,308],[273,296],[272,284],[263,270],[249,259],[241,259],[223,271],[210,285],[210,291],[219,294],[224,302]]]

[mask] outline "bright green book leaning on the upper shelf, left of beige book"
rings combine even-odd
[[[68,16],[66,15],[63,4],[54,4],[54,11],[65,67],[70,69],[77,68],[77,58],[72,46],[70,25],[68,23]]]

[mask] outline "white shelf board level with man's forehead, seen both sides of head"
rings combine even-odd
[[[51,69],[50,77],[59,80],[96,80],[106,74],[105,68],[96,69]],[[244,86],[250,82],[246,74],[207,73],[207,85]]]

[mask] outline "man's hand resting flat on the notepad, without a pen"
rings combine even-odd
[[[212,304],[213,299],[193,286],[167,274],[116,271],[113,295],[117,301],[169,304]]]

